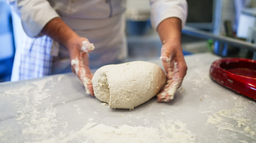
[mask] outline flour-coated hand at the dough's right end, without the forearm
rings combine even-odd
[[[186,75],[187,66],[181,49],[181,44],[164,43],[161,48],[161,57],[165,72],[167,73],[166,85],[157,95],[159,102],[169,102],[181,86]]]

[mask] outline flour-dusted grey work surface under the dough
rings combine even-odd
[[[218,58],[185,56],[174,99],[134,110],[87,95],[73,73],[1,83],[0,142],[256,142],[256,101],[210,79]]]

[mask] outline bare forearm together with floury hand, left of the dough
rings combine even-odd
[[[59,17],[50,20],[41,32],[58,41],[69,50],[72,71],[81,80],[86,93],[93,96],[93,75],[89,69],[88,53],[94,49],[94,45],[88,39],[79,37]]]

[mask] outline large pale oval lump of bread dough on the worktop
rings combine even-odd
[[[166,75],[156,64],[133,61],[99,68],[92,79],[94,94],[112,108],[134,109],[160,92]]]

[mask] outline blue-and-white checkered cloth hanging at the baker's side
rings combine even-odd
[[[19,59],[14,59],[14,62],[19,62],[18,68],[12,73],[18,74],[14,80],[50,75],[53,60],[53,56],[51,56],[53,40],[46,35],[39,38],[25,36],[24,39],[22,49],[17,50],[18,53],[16,53],[20,55]]]

